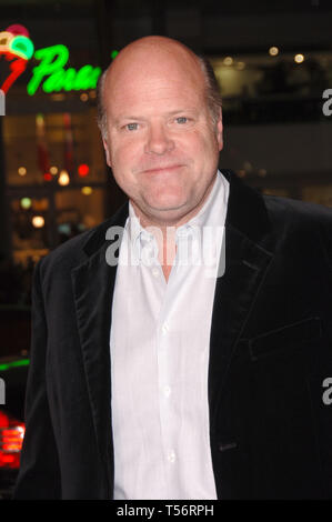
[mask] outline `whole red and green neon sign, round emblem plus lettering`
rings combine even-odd
[[[17,78],[27,68],[28,61],[33,57],[40,63],[32,69],[32,78],[27,86],[28,94],[33,96],[38,88],[44,92],[79,91],[95,89],[101,74],[100,67],[83,66],[76,70],[72,67],[64,69],[69,60],[69,50],[61,43],[39,49],[29,38],[29,31],[23,26],[14,24],[0,32],[0,56],[10,61],[10,74],[0,89],[7,93]],[[117,51],[113,51],[117,52]]]

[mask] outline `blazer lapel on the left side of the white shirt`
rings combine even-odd
[[[110,328],[117,265],[107,262],[105,241],[110,227],[125,224],[128,203],[103,223],[84,247],[88,260],[72,270],[77,324],[82,349],[87,387],[101,462],[111,446]],[[118,237],[113,239],[118,240]],[[108,473],[108,476],[111,476]]]

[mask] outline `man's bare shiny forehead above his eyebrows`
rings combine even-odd
[[[110,116],[135,108],[155,111],[203,104],[204,78],[192,57],[140,52],[130,58],[109,71],[104,107]]]

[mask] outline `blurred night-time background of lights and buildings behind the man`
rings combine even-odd
[[[332,207],[331,28],[331,0],[0,0],[0,375],[29,364],[36,262],[124,201],[95,107],[117,52],[164,34],[205,54],[223,97],[220,168]]]

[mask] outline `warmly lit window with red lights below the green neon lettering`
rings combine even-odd
[[[7,183],[10,187],[104,182],[95,108],[83,112],[7,116],[3,119]]]

